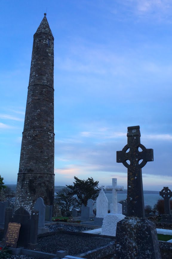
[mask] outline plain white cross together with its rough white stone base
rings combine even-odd
[[[112,186],[106,186],[106,190],[112,190],[112,204],[110,213],[103,219],[102,233],[104,235],[116,236],[117,222],[125,218],[123,214],[118,214],[117,191],[123,191],[123,186],[117,186],[117,178],[112,178]]]

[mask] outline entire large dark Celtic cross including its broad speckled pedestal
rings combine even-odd
[[[156,225],[144,218],[142,167],[153,161],[153,149],[140,144],[139,129],[139,126],[128,127],[128,144],[116,154],[117,162],[128,168],[127,215],[130,217],[117,223],[115,256],[118,259],[161,259]],[[139,160],[142,160],[140,164]]]

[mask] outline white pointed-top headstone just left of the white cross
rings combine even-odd
[[[96,218],[104,218],[107,213],[108,213],[108,199],[102,188],[96,200]]]

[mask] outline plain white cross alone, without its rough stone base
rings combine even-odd
[[[107,191],[112,190],[112,211],[110,213],[118,213],[118,206],[117,206],[117,191],[123,191],[124,186],[117,186],[117,178],[112,178],[112,185],[106,186]]]

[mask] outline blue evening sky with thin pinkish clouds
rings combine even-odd
[[[47,9],[54,36],[55,185],[73,176],[127,187],[116,151],[140,126],[154,162],[143,188],[172,189],[171,0],[1,0],[0,174],[15,184],[33,34]]]

